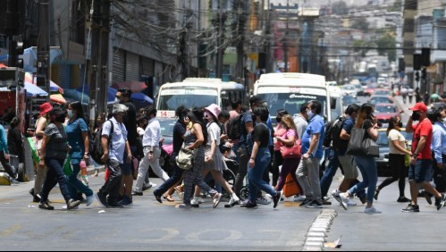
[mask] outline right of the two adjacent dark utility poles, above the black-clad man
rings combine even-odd
[[[106,112],[108,88],[108,54],[110,41],[110,0],[102,0],[101,55],[99,59],[100,73],[97,83],[97,113]]]

